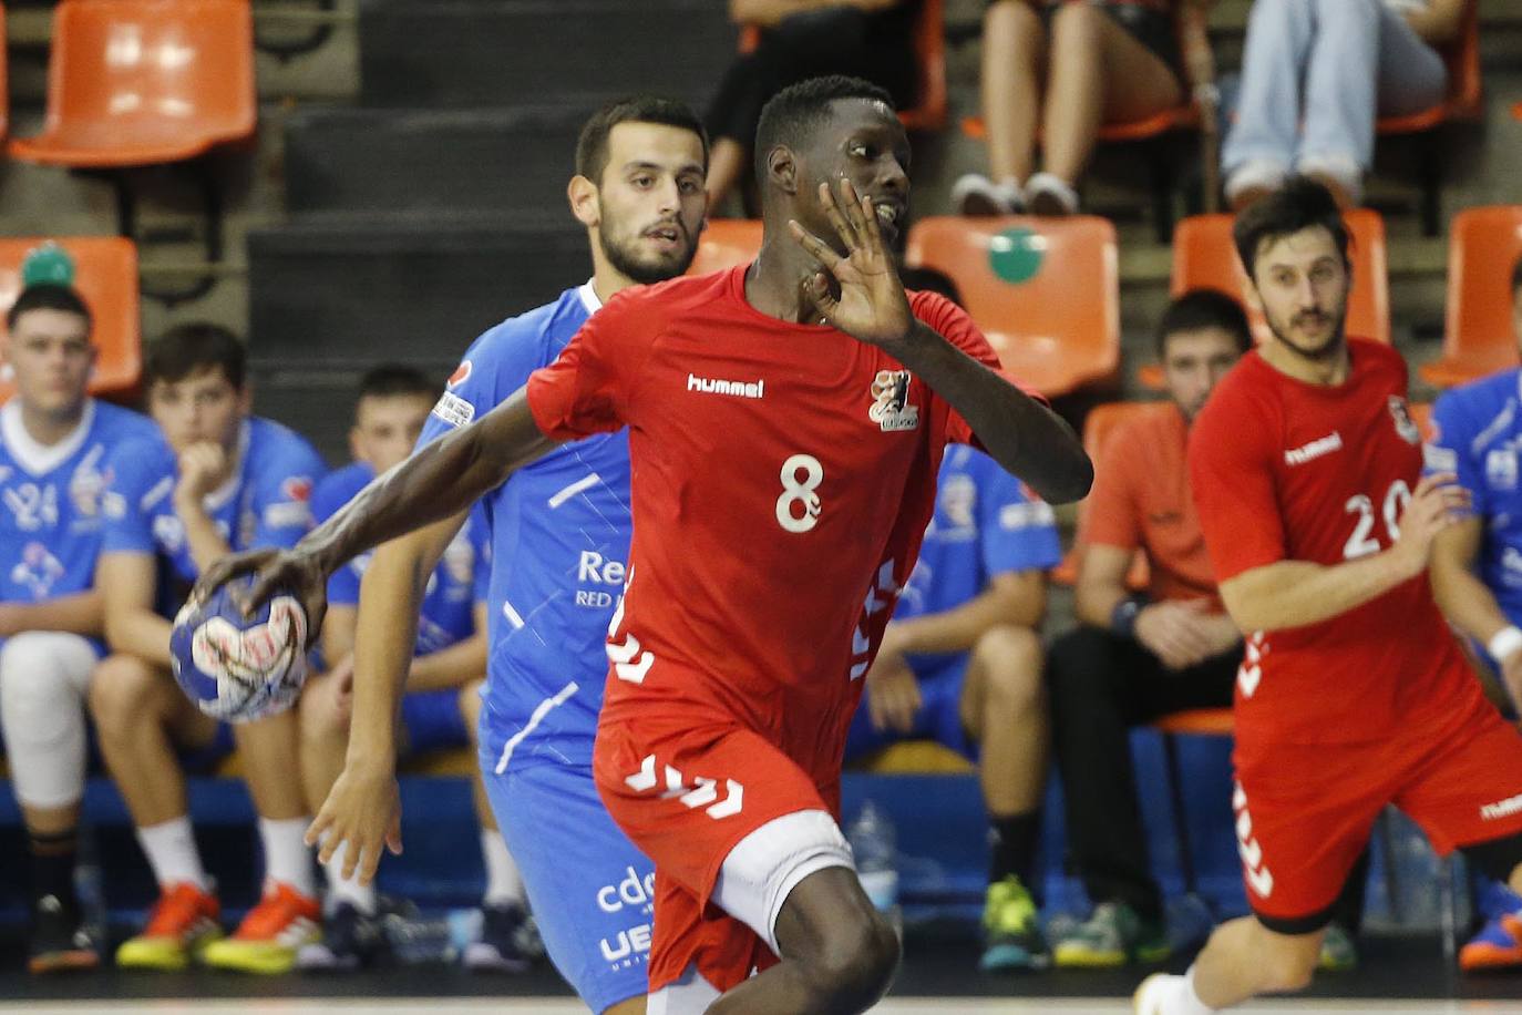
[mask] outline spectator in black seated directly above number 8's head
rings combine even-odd
[[[729,0],[729,17],[756,26],[759,41],[735,58],[708,107],[708,207],[747,177],[761,108],[791,84],[851,75],[886,88],[900,108],[913,105],[918,9],[919,0]]]

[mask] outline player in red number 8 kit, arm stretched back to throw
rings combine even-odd
[[[341,560],[452,516],[554,441],[627,426],[633,543],[594,768],[656,864],[651,1012],[858,1012],[881,997],[898,940],[839,829],[840,756],[942,449],[977,440],[1055,502],[1093,478],[1067,425],[991,370],[966,315],[900,285],[887,240],[907,163],[877,87],[781,91],[756,134],[753,265],[621,292],[499,408],[295,551],[224,563],[201,587],[262,566],[251,597],[294,584],[315,628]],[[394,794],[388,772],[350,758],[314,822],[324,855],[349,842],[373,867],[394,843]]]

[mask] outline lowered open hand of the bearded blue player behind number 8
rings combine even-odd
[[[402,852],[402,796],[396,787],[394,765],[344,764],[323,800],[323,810],[306,829],[306,845],[318,846],[317,858],[327,863],[344,848],[344,878],[359,872],[359,883],[370,884],[380,864],[380,845],[393,855]]]

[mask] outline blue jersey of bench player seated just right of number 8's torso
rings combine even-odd
[[[1046,571],[1061,558],[1052,507],[983,452],[950,444],[936,513],[893,619],[944,613],[982,593],[994,575]]]

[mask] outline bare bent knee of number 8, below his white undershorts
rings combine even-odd
[[[898,969],[898,934],[849,867],[798,883],[778,913],[776,942],[782,962],[726,991],[709,1015],[864,1012]]]

